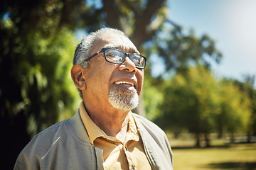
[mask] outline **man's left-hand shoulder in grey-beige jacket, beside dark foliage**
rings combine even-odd
[[[79,114],[74,116],[33,137],[18,155],[14,169],[93,169],[95,149],[80,138],[86,135],[79,135]]]

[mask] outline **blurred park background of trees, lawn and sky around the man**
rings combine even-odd
[[[245,64],[256,56],[230,52],[239,47],[255,50],[255,39],[249,40],[255,27],[241,22],[241,29],[225,25],[247,20],[243,4],[253,6],[255,1],[210,2],[200,6],[200,0],[1,1],[1,167],[12,169],[31,137],[75,113],[80,103],[70,78],[75,46],[82,35],[106,26],[123,30],[148,57],[142,100],[134,112],[166,131],[174,169],[256,169],[256,72],[254,63]],[[236,15],[220,14],[221,8],[228,10],[235,2],[241,4]],[[210,15],[213,8],[215,15]],[[175,11],[176,18],[171,14]],[[199,16],[209,31],[193,25]],[[218,23],[223,35],[212,32],[215,16],[223,16]],[[249,23],[255,23],[255,17]],[[225,46],[235,38],[248,39]]]

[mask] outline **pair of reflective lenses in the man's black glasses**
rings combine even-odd
[[[115,64],[122,64],[125,60],[124,52],[114,49],[107,49],[105,50],[105,57],[108,62],[112,62]],[[137,54],[129,54],[129,59],[134,62],[135,66],[144,68],[145,60],[144,57]]]

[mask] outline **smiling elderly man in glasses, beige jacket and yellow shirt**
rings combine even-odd
[[[36,135],[14,169],[173,169],[164,132],[131,112],[142,94],[146,57],[120,30],[85,35],[71,77],[75,115]]]

